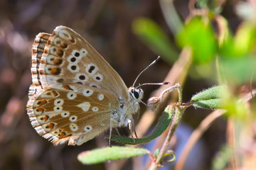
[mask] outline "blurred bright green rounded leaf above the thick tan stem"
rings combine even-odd
[[[181,48],[191,47],[194,64],[211,62],[218,50],[215,33],[206,18],[192,18],[181,30],[176,41]]]

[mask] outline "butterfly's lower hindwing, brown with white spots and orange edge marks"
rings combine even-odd
[[[55,145],[81,145],[110,128],[119,99],[104,89],[58,84],[28,101],[28,116],[39,135]],[[114,128],[114,127],[113,127]]]

